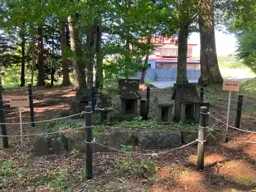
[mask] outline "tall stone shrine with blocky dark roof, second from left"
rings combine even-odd
[[[138,116],[139,79],[120,79],[118,94],[121,99],[121,117],[124,120],[133,120]]]

